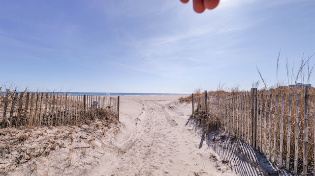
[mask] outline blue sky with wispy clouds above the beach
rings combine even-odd
[[[315,0],[221,0],[202,14],[191,1],[0,0],[0,85],[191,93],[221,82],[249,90],[260,80],[256,66],[276,85],[280,50],[284,85],[286,58],[291,84],[303,54],[315,53]]]

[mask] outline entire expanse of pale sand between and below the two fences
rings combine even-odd
[[[2,129],[0,175],[276,174],[267,160],[229,135],[214,133],[213,143],[204,140],[188,123],[191,104],[179,103],[180,97],[121,96],[117,125],[96,121],[80,126]],[[8,144],[21,136],[23,142]]]

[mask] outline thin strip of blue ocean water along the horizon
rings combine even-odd
[[[20,94],[21,92],[19,92]],[[44,92],[46,93],[46,92]],[[49,92],[53,93],[53,92]],[[117,92],[54,92],[55,94],[67,94],[67,95],[94,95],[94,96],[124,96],[124,95],[134,95],[134,96],[140,96],[140,95],[190,95],[190,94],[181,94],[181,93],[117,93]],[[2,92],[2,95],[5,95],[5,92]]]

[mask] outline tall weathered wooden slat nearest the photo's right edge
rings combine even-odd
[[[307,155],[307,146],[308,146],[308,126],[309,126],[309,97],[310,97],[310,87],[305,87],[305,107],[304,107],[304,130],[303,130],[303,174],[307,174],[308,166],[308,155]]]

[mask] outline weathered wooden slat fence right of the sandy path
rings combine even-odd
[[[315,173],[315,88],[192,95],[224,129],[293,174]]]

